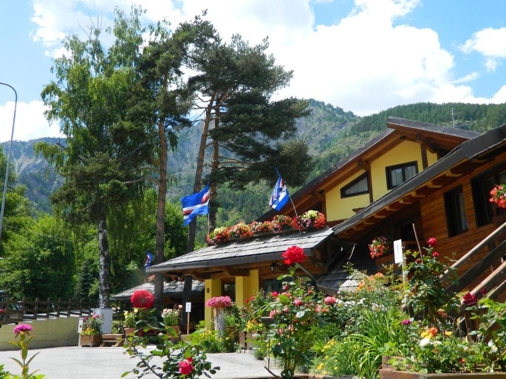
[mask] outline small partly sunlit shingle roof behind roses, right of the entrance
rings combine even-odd
[[[353,264],[354,272],[348,272],[344,266]],[[362,272],[367,275],[376,273],[376,264],[369,256],[349,259],[348,257],[336,262],[329,272],[321,275],[316,281],[320,291],[335,295],[338,291],[356,291],[358,283],[363,278]]]

